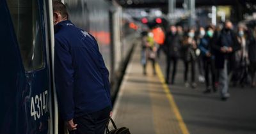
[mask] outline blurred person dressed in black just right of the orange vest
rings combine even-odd
[[[170,31],[166,33],[164,40],[164,47],[166,48],[166,84],[169,83],[170,65],[173,64],[172,70],[172,81],[171,84],[175,82],[175,74],[177,68],[177,62],[180,57],[180,43],[181,38],[177,33],[176,26],[170,26]]]

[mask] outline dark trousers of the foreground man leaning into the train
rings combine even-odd
[[[106,124],[109,121],[110,107],[104,108],[92,114],[86,114],[74,118],[77,130],[69,131],[70,134],[104,134]]]

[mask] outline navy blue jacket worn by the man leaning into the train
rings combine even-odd
[[[54,26],[54,71],[61,117],[111,107],[109,72],[95,38],[69,20]]]

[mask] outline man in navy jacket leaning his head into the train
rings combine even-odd
[[[60,117],[69,133],[104,133],[111,116],[109,71],[95,38],[54,1],[54,74]]]

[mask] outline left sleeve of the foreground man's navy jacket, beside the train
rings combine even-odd
[[[55,38],[54,74],[60,115],[64,121],[74,117],[74,69],[67,44]]]

